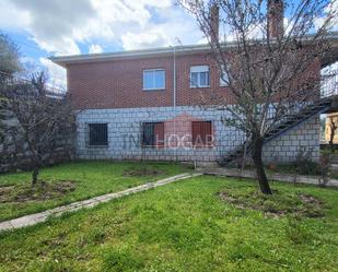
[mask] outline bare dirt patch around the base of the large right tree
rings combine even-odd
[[[223,191],[219,193],[219,197],[238,209],[261,211],[265,215],[272,217],[283,215],[296,217],[324,216],[323,202],[304,193],[275,191],[272,196],[265,196],[257,191],[245,193]]]

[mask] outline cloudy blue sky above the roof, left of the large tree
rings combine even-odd
[[[0,31],[18,44],[28,70],[66,87],[49,56],[142,49],[203,40],[195,19],[174,0],[1,0]]]

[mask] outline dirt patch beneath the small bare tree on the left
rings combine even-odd
[[[31,185],[0,187],[0,203],[57,199],[73,190],[75,190],[75,182],[70,180],[38,181],[34,187]]]

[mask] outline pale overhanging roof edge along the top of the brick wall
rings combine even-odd
[[[334,42],[334,47],[338,48],[338,32],[330,33],[328,38]],[[228,42],[224,43],[223,45],[224,47],[231,48],[236,46],[236,42]],[[49,59],[53,62],[66,68],[68,64],[73,63],[109,61],[114,59],[136,59],[136,58],[147,58],[155,56],[172,56],[174,50],[177,55],[206,52],[210,50],[210,45],[203,44],[203,45],[168,46],[168,47],[159,47],[159,48],[141,49],[141,50],[125,50],[116,52],[59,56],[59,57],[49,57]]]

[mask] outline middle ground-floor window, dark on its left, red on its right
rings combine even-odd
[[[164,122],[143,122],[143,146],[164,146]]]

